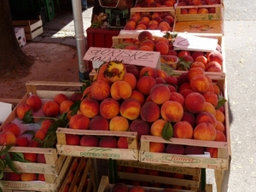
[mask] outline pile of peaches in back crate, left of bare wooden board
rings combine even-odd
[[[172,31],[174,18],[166,12],[138,12],[132,14],[126,22],[125,30],[160,30],[162,32]]]

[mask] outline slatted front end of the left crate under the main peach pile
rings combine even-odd
[[[138,160],[137,132],[131,131],[94,131],[94,130],[73,130],[58,128],[56,131],[58,143],[56,145],[58,154],[113,160]],[[127,137],[128,148],[100,148],[67,145],[66,135],[94,135],[98,137],[115,136]]]

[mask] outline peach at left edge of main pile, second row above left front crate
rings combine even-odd
[[[85,117],[93,118],[100,113],[100,104],[94,98],[84,98],[80,103],[80,111]]]

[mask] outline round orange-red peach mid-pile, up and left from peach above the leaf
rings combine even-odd
[[[163,104],[171,97],[171,91],[166,84],[154,84],[149,93],[150,99],[156,104]]]

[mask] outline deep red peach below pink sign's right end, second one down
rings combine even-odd
[[[150,76],[143,76],[137,80],[137,90],[141,91],[143,95],[150,94],[150,90],[156,84],[155,79]]]

